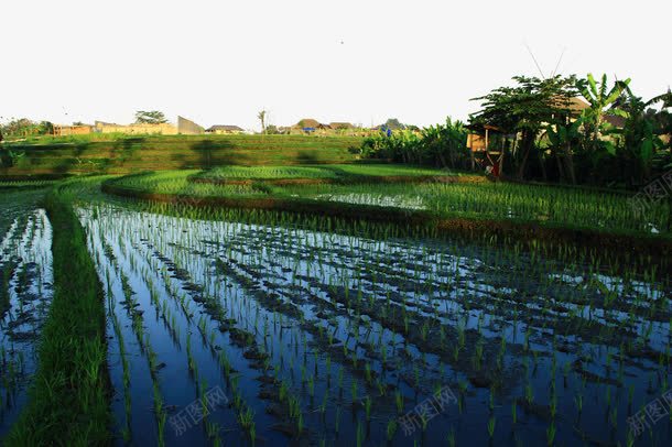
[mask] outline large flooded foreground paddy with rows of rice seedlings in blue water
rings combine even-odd
[[[670,276],[653,266],[77,212],[106,292],[118,444],[672,440],[649,405],[669,408],[671,379]]]

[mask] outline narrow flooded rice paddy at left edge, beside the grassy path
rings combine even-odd
[[[26,402],[52,298],[52,228],[39,196],[0,197],[0,434]]]

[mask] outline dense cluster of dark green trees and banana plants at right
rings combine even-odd
[[[536,78],[474,98],[481,109],[468,123],[452,121],[422,129],[381,132],[365,140],[365,157],[473,168],[469,133],[489,130],[490,152],[501,176],[568,184],[636,187],[672,168],[672,94],[642,99],[630,79],[609,83],[593,75]]]

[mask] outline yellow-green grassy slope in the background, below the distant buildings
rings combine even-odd
[[[3,176],[208,168],[223,164],[278,165],[353,163],[353,137],[303,135],[112,135],[40,139],[3,143],[0,151],[22,154]],[[1,155],[1,154],[0,154]],[[7,159],[7,156],[6,156]]]

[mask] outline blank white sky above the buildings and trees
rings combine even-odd
[[[0,117],[429,126],[539,75],[525,44],[545,75],[564,50],[559,73],[649,98],[672,84],[671,17],[670,0],[2,0]]]

